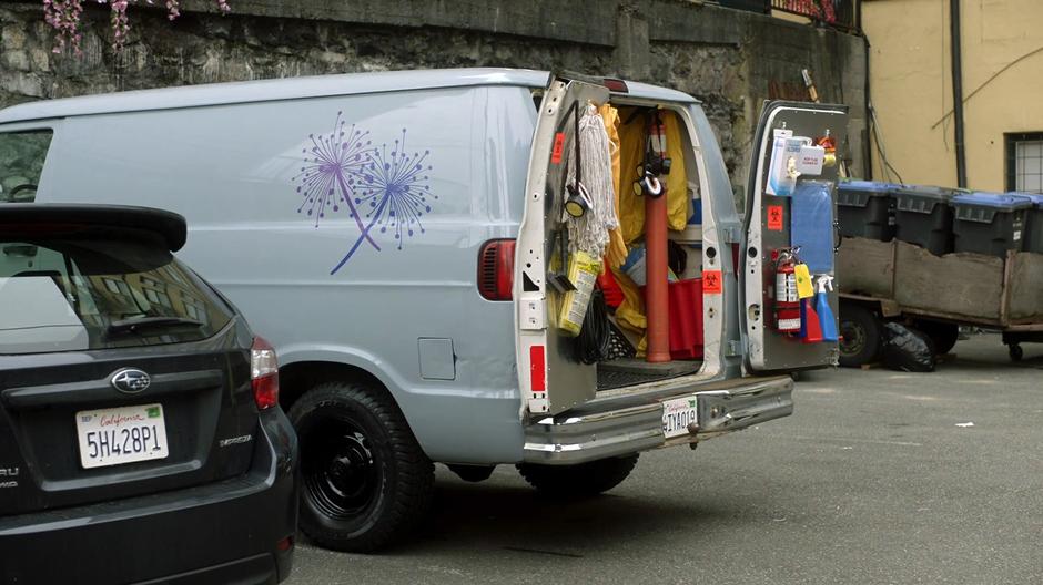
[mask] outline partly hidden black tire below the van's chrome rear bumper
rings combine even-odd
[[[518,472],[538,492],[551,497],[586,497],[607,492],[622,483],[638,453],[599,459],[578,465],[538,465],[519,463]]]

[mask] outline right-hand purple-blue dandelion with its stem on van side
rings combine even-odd
[[[374,150],[368,164],[360,172],[353,202],[355,208],[366,216],[366,227],[330,274],[335,274],[352,258],[374,228],[378,234],[393,235],[398,249],[406,238],[424,233],[421,218],[431,212],[431,203],[438,198],[428,185],[429,154],[431,151],[411,153],[406,148],[405,129],[402,137],[392,145],[384,144]]]

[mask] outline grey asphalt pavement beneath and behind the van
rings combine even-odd
[[[645,453],[588,501],[439,466],[412,542],[302,544],[286,583],[1043,584],[1043,345],[1024,348],[1012,365],[980,335],[934,373],[813,372],[792,417]]]

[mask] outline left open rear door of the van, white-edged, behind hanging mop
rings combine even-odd
[[[514,299],[523,409],[556,414],[594,398],[594,366],[575,361],[556,333],[561,275],[568,265],[559,237],[566,163],[574,147],[574,116],[588,102],[601,105],[602,85],[551,75],[539,106],[525,186],[525,214],[515,252]]]

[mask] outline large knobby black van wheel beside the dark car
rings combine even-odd
[[[435,466],[394,400],[358,382],[327,382],[290,409],[301,441],[301,531],[320,546],[365,553],[424,519]]]

